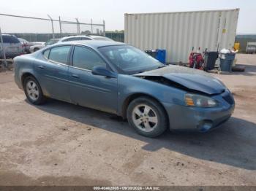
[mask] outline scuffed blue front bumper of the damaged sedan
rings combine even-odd
[[[214,95],[212,98],[219,102],[219,106],[200,108],[164,103],[169,117],[170,130],[206,132],[227,121],[235,109],[233,96],[226,90],[225,93]]]

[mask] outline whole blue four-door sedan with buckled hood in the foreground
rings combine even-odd
[[[167,66],[129,44],[62,42],[15,58],[15,82],[31,104],[55,98],[127,118],[143,136],[206,132],[227,121],[235,101],[205,71]]]

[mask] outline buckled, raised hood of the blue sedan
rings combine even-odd
[[[160,69],[135,74],[137,77],[164,77],[170,82],[209,95],[225,91],[225,85],[219,79],[212,77],[205,71],[190,69],[184,66],[165,66]]]

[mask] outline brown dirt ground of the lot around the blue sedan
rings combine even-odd
[[[32,106],[0,73],[1,185],[256,185],[256,55],[213,74],[236,99],[209,133],[139,136],[118,117],[61,101]],[[186,119],[184,119],[186,120]]]

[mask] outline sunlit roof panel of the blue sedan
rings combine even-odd
[[[61,42],[58,44],[67,44],[67,42]],[[101,40],[81,40],[81,41],[71,41],[68,44],[81,44],[86,45],[88,47],[98,48],[98,47],[106,47],[106,46],[114,46],[114,45],[127,45],[123,42],[116,41],[101,41]]]

